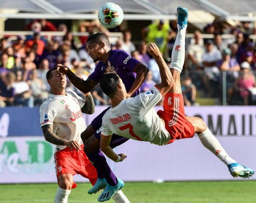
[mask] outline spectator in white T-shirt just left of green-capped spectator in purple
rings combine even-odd
[[[202,56],[202,61],[204,65],[203,82],[207,90],[208,96],[213,96],[212,94],[216,91],[216,83],[218,82],[219,69],[216,63],[221,60],[221,52],[214,49],[213,42],[207,40],[205,43],[206,52]],[[214,83],[211,87],[210,83]],[[218,83],[217,83],[218,84]]]

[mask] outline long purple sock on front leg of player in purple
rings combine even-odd
[[[93,153],[86,153],[88,159],[93,163],[97,172],[107,180],[107,183],[111,186],[117,185],[117,179],[111,168],[109,167],[107,160],[102,151],[98,150]],[[99,177],[99,178],[103,178]]]

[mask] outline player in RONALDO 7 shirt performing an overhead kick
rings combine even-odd
[[[113,133],[156,145],[167,145],[175,139],[191,138],[194,133],[197,133],[204,147],[227,165],[233,177],[249,178],[254,171],[229,157],[202,119],[185,116],[180,73],[185,58],[188,10],[178,7],[177,15],[178,33],[172,50],[170,69],[155,44],[151,43],[147,47],[159,66],[160,84],[156,84],[146,93],[126,99],[127,93],[122,79],[113,72],[112,67],[108,67],[107,73],[100,80],[103,92],[110,97],[112,103],[111,108],[102,118],[100,148],[110,159],[118,162],[126,156],[117,155],[109,146]],[[165,96],[163,111],[156,112],[154,106],[163,96]],[[119,181],[122,182],[122,180]],[[102,195],[104,194],[103,191]]]

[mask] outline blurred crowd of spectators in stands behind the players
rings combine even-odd
[[[28,25],[28,29],[33,31],[33,35],[19,35],[12,41],[8,37],[0,39],[0,107],[34,107],[44,102],[50,92],[45,75],[57,64],[70,67],[84,80],[96,67],[87,53],[88,36],[80,36],[78,46],[65,24],[56,27],[47,20],[35,20]],[[96,31],[109,35],[107,29],[94,21],[81,22],[78,30],[89,35]],[[41,31],[60,31],[65,35],[47,40],[41,36]],[[156,43],[169,65],[176,32],[175,21],[166,23],[160,20],[142,29],[142,41],[136,46],[129,30],[122,30],[122,38],[111,44],[112,49],[125,50],[149,68],[148,76],[140,88],[141,92],[160,81],[157,63],[146,51],[147,44]],[[203,39],[202,34],[213,34],[214,37]],[[232,34],[234,38],[222,38],[222,34]],[[231,26],[215,20],[203,31],[196,30],[194,37],[187,38],[182,73],[182,91],[186,105],[197,104],[198,93],[202,97],[221,101],[223,82],[227,88],[228,104],[253,104],[256,46],[250,35],[256,35],[256,27],[252,23]],[[67,88],[81,95],[69,81]],[[96,105],[110,104],[99,86],[93,89],[92,95]]]

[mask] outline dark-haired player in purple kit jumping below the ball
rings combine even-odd
[[[139,94],[138,89],[148,74],[148,68],[145,67],[145,65],[132,58],[122,50],[112,50],[110,48],[110,43],[107,36],[100,32],[90,36],[87,39],[87,49],[88,54],[93,61],[99,61],[99,63],[97,64],[94,72],[89,75],[86,81],[77,77],[70,71],[68,67],[62,64],[58,64],[57,70],[60,73],[67,75],[70,81],[83,93],[88,93],[99,83],[100,78],[105,73],[106,67],[113,66],[117,75],[119,75],[125,84],[125,89],[128,92],[127,98]],[[134,73],[136,73],[136,77],[134,76]],[[102,151],[100,151],[102,117],[108,108],[99,114],[99,116],[97,116],[81,134],[81,138],[85,146],[84,152],[90,161],[93,162],[93,165],[98,172],[98,180],[93,188],[88,191],[89,194],[96,193],[100,189],[105,188],[107,183],[110,186],[113,186],[113,190],[116,190],[115,187],[118,187],[118,180],[108,166],[104,154]],[[92,136],[93,134],[94,136]],[[113,135],[110,146],[114,148],[127,140],[128,138]],[[107,195],[100,201],[109,200],[110,198],[111,196]]]

